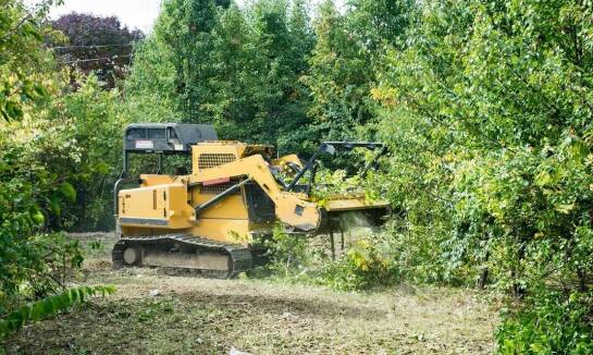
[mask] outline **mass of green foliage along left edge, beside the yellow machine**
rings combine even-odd
[[[2,336],[65,306],[51,308],[61,299],[55,297],[35,303],[65,290],[83,262],[78,242],[54,231],[75,223],[87,188],[111,189],[103,184],[107,167],[119,156],[118,93],[103,91],[92,75],[81,81],[57,71],[42,47],[44,37],[54,35],[41,25],[51,4],[27,13],[22,2],[3,1],[0,10],[0,110],[8,105],[18,111],[0,125]],[[78,302],[95,292],[62,297]],[[27,302],[34,304],[10,314]]]

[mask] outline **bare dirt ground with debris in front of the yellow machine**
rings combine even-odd
[[[24,354],[490,354],[496,311],[473,291],[399,285],[345,293],[265,280],[111,270],[104,249],[84,284],[118,292],[32,326],[10,340]]]

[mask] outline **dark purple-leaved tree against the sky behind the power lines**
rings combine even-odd
[[[66,44],[52,42],[60,62],[73,65],[84,73],[96,72],[107,88],[125,76],[133,54],[133,46],[144,38],[139,29],[129,30],[114,16],[70,13],[51,22],[62,32]]]

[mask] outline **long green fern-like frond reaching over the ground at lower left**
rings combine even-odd
[[[115,292],[112,285],[78,286],[44,299],[21,306],[17,310],[0,318],[0,339],[7,339],[18,331],[23,326],[41,320],[60,311],[66,310],[76,304],[100,294],[106,296]]]

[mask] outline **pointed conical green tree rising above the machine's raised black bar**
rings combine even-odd
[[[323,139],[351,139],[372,118],[372,65],[353,36],[347,19],[324,1],[314,22],[317,44],[304,82],[311,90],[311,131]]]

